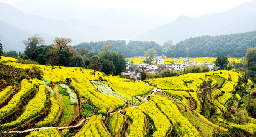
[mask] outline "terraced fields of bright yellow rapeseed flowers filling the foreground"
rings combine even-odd
[[[3,66],[17,73],[33,66],[43,71],[42,80],[26,75],[22,81],[4,86],[0,91],[1,126],[18,136],[206,137],[217,128],[223,132],[232,127],[249,134],[256,131],[253,118],[238,124],[236,112],[230,115],[233,122],[223,116],[231,111],[234,101],[240,103],[234,109],[245,110],[247,105],[245,97],[232,94],[242,76],[232,70],[207,72],[207,77],[205,73],[189,73],[145,80],[153,85],[148,86],[142,81],[106,76],[101,72],[94,77],[92,70],[77,67],[55,66],[51,70],[50,66],[15,62]],[[71,83],[65,82],[67,78]],[[213,103],[212,118],[209,118],[210,97],[206,97],[208,107],[204,114],[201,97],[205,90],[201,86],[210,80],[213,80],[212,86],[222,84],[217,86],[220,90],[215,87],[211,90],[218,96]],[[243,86],[251,84],[248,80]],[[162,91],[148,96],[153,89]],[[148,98],[144,100],[145,97]],[[247,116],[246,112],[243,115]]]

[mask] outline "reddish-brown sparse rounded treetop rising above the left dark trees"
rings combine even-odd
[[[64,38],[64,37],[55,37],[54,42],[54,47],[61,52],[61,50],[64,49],[69,49],[71,48],[71,45],[69,45],[69,43],[72,42],[71,38]]]

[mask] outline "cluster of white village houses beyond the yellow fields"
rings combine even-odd
[[[128,78],[139,80],[140,77],[140,67],[146,67],[146,72],[156,73],[161,72],[162,70],[169,69],[169,70],[176,70],[181,71],[185,67],[190,67],[190,65],[208,65],[210,70],[216,69],[215,64],[212,63],[199,63],[199,62],[192,62],[191,64],[188,63],[174,63],[174,64],[164,64],[164,58],[157,58],[154,65],[149,65],[145,63],[141,64],[130,64],[129,62],[126,64],[126,71],[121,73],[121,78]]]

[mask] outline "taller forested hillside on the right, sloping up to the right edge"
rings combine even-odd
[[[256,31],[220,36],[201,36],[172,45],[167,56],[185,57],[185,48],[191,57],[245,56],[246,49],[256,46]]]

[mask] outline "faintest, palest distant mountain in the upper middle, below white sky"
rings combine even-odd
[[[67,0],[21,0],[13,6],[26,14],[44,18],[55,20],[75,18],[84,24],[102,28],[133,30],[137,32],[135,36],[176,19],[176,17],[140,13],[130,9],[82,6]]]

